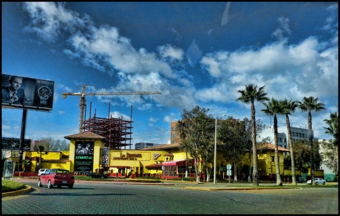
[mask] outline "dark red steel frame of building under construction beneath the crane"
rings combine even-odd
[[[83,121],[83,131],[90,131],[97,135],[103,136],[108,140],[106,148],[109,149],[131,149],[131,129],[132,121],[123,120],[123,118],[98,118],[94,117]]]

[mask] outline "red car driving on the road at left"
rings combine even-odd
[[[56,185],[57,188],[67,186],[69,189],[72,189],[74,184],[75,178],[73,174],[66,169],[48,169],[38,180],[38,187],[47,185],[48,188],[52,188]]]

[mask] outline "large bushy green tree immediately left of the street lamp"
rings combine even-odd
[[[195,160],[196,182],[199,182],[199,159],[203,161],[202,167],[207,170],[207,179],[211,173],[213,158],[214,119],[208,116],[209,111],[196,105],[191,111],[183,110],[182,120],[177,123],[181,137],[180,145]]]

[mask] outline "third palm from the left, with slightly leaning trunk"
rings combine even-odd
[[[289,115],[291,115],[291,112],[294,112],[296,107],[298,106],[297,101],[292,101],[290,99],[289,101],[287,99],[284,99],[280,102],[280,106],[282,109],[282,114],[286,116],[286,125],[287,125],[287,132],[288,132],[288,142],[289,142],[289,150],[290,150],[290,160],[291,160],[291,168],[292,168],[292,185],[296,184],[296,177],[295,177],[295,161],[294,161],[294,150],[293,150],[293,140],[292,140],[292,133],[290,131],[290,121],[289,121]]]

